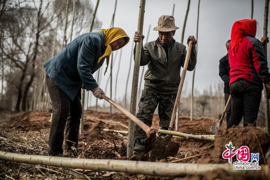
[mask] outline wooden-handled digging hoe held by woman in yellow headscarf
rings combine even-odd
[[[140,121],[140,119],[136,118],[133,114],[128,112],[126,109],[124,109],[122,106],[120,106],[119,104],[117,104],[115,101],[108,98],[104,94],[101,94],[101,97],[105,99],[106,101],[108,101],[110,104],[112,104],[114,107],[116,107],[123,114],[128,116],[134,123],[136,123],[140,128],[142,128],[144,132],[146,132],[147,138],[144,144],[144,154],[150,152],[154,148],[154,144],[156,140],[156,131],[148,127],[146,124]]]

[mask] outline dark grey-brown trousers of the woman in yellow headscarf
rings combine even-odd
[[[79,125],[82,117],[81,91],[73,101],[46,75],[46,83],[52,101],[52,122],[49,135],[49,154],[62,154],[64,129],[65,149],[78,146]]]

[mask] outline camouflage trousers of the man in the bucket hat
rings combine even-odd
[[[137,118],[147,126],[151,127],[154,112],[158,106],[160,129],[168,130],[175,99],[176,95],[164,95],[148,89],[143,89]],[[146,138],[147,135],[143,129],[135,125],[134,150],[140,149],[141,151],[144,151],[144,141]]]

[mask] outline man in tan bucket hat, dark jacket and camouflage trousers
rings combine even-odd
[[[159,125],[161,129],[167,130],[173,113],[178,86],[180,83],[180,68],[184,67],[187,49],[184,44],[173,39],[175,30],[173,16],[161,16],[158,19],[158,39],[146,43],[141,52],[140,66],[148,64],[144,76],[144,89],[139,103],[137,118],[149,127],[156,107],[158,106]],[[134,42],[142,41],[144,36],[135,32]],[[192,41],[190,61],[187,70],[191,71],[196,65],[196,44],[194,36],[187,38],[187,44]],[[134,48],[135,53],[135,48]],[[146,133],[136,125],[134,138],[134,154],[143,155],[144,140]]]

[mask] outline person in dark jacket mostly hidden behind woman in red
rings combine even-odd
[[[227,52],[229,50],[229,45],[231,40],[226,42]],[[229,64],[229,55],[228,53],[219,60],[219,76],[224,81],[224,97],[225,97],[225,105],[230,96],[230,64]],[[228,121],[231,116],[231,103],[229,103],[227,110],[226,110],[226,120]]]

